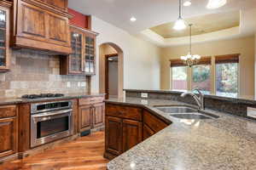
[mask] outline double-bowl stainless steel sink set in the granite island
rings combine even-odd
[[[179,119],[212,119],[219,117],[187,106],[155,106],[154,108]]]

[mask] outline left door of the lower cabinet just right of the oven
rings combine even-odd
[[[92,127],[92,113],[91,105],[82,106],[79,108],[79,130],[83,132]]]

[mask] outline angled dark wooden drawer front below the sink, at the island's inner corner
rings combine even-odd
[[[155,133],[168,126],[166,122],[161,121],[159,118],[152,115],[148,111],[143,111],[143,122],[148,125],[148,127],[150,127]]]

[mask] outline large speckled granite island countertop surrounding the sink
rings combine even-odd
[[[218,119],[182,120],[154,105],[186,105],[162,99],[108,99],[140,105],[172,124],[108,162],[108,170],[255,170],[256,122],[206,110]]]

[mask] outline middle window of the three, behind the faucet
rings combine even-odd
[[[192,66],[192,89],[199,88],[204,94],[211,92],[211,66]]]

